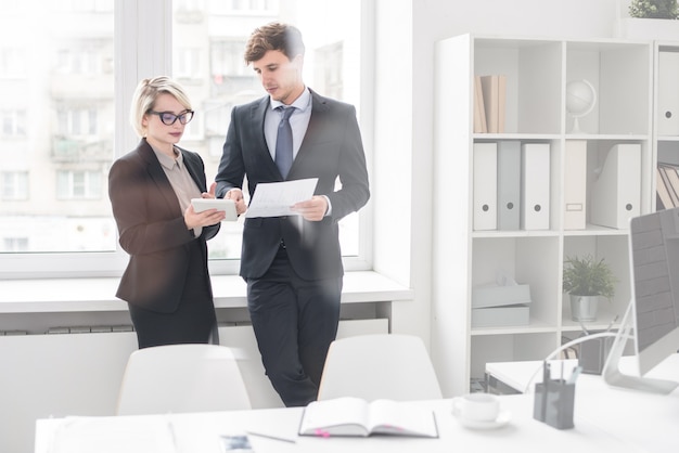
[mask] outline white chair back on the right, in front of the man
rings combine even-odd
[[[340,397],[368,401],[443,398],[422,339],[388,334],[346,337],[331,344],[318,399]]]

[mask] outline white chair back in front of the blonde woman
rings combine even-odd
[[[251,409],[231,349],[168,345],[130,354],[118,393],[117,415]]]

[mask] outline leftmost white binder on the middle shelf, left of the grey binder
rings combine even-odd
[[[498,145],[474,143],[474,230],[498,228]]]

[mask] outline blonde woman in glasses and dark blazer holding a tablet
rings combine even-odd
[[[116,296],[128,302],[140,348],[207,342],[216,315],[206,241],[225,212],[191,206],[191,198],[215,196],[201,157],[176,145],[193,117],[191,103],[171,79],[144,79],[130,117],[141,141],[108,173],[120,246],[130,256]]]

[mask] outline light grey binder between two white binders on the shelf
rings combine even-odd
[[[521,142],[498,142],[498,230],[518,230],[521,222]]]

